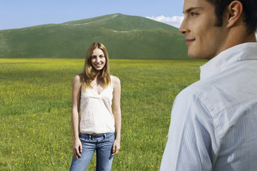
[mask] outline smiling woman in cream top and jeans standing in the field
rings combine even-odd
[[[73,81],[74,156],[70,170],[86,170],[95,150],[96,170],[111,170],[113,155],[120,150],[120,90],[120,79],[110,76],[107,49],[102,43],[93,43],[83,72]]]

